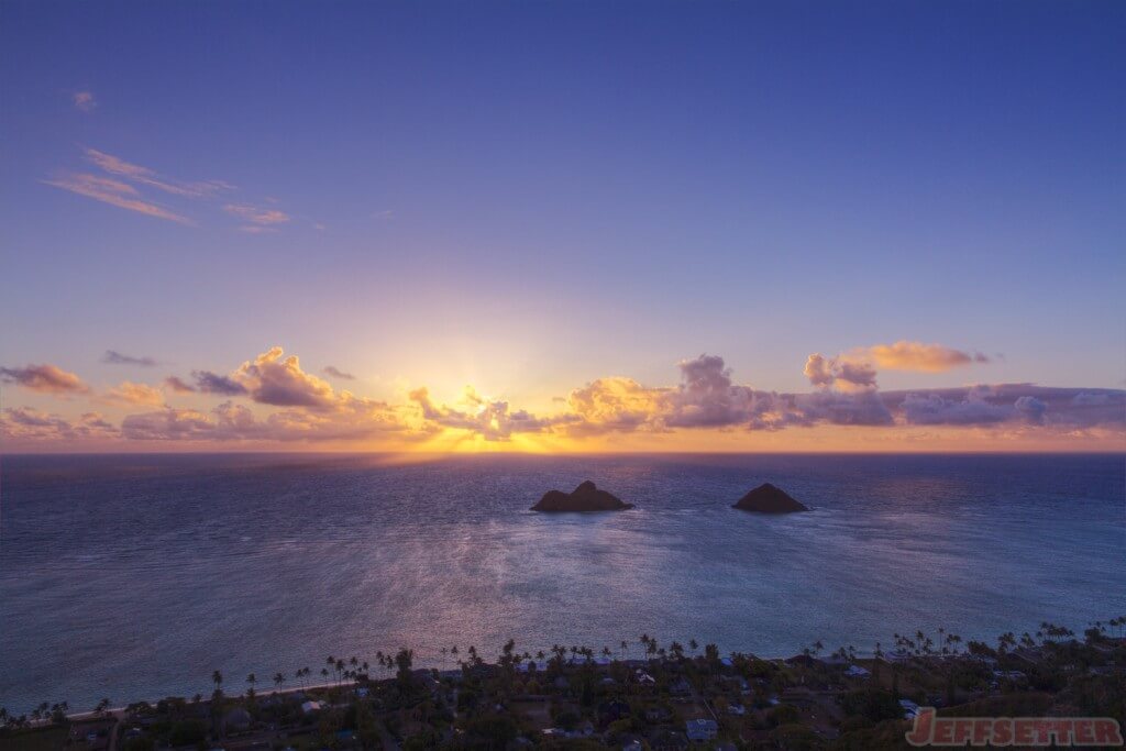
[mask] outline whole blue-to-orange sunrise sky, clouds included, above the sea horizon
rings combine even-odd
[[[0,437],[1126,450],[1118,2],[0,3]]]

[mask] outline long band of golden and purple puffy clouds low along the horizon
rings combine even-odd
[[[935,346],[927,346],[923,354],[913,347],[892,346],[892,350],[899,363],[911,360],[912,367],[969,364],[950,355],[959,350]],[[325,373],[343,377],[331,366]],[[357,396],[304,370],[296,355],[271,347],[227,374],[197,369],[191,383],[177,376],[167,377],[162,387],[126,381],[92,395],[93,401],[119,409],[148,408],[126,414],[119,428],[95,412],[89,414],[97,417],[68,420],[30,408],[7,410],[3,422],[6,435],[26,440],[99,438],[125,442],[340,442],[392,436],[400,441],[421,441],[447,431],[504,442],[521,435],[583,440],[692,431],[777,432],[817,426],[964,428],[1004,435],[1101,430],[1126,436],[1126,392],[1120,390],[991,384],[883,392],[877,386],[875,361],[817,352],[808,356],[804,367],[812,390],[801,393],[741,384],[717,355],[681,360],[676,373],[677,383],[658,386],[624,376],[596,378],[558,400],[556,411],[536,414],[470,387],[455,404],[435,400],[425,386],[410,391],[400,404]],[[53,365],[2,368],[0,377],[32,392],[91,393],[75,374]],[[179,408],[168,405],[167,395],[195,402],[223,401]]]

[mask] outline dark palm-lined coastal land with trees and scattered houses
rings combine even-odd
[[[912,705],[949,716],[1110,716],[1126,721],[1126,618],[1091,624],[1082,640],[1051,623],[1002,634],[995,645],[939,628],[894,636],[870,656],[815,642],[788,660],[667,645],[642,634],[615,649],[555,644],[536,654],[515,641],[486,661],[476,646],[441,654],[456,664],[414,667],[414,652],[377,652],[369,664],[329,655],[283,671],[274,690],[256,673],[243,695],[211,676],[208,699],[168,697],[72,715],[66,703],[28,714],[0,709],[0,751],[61,749],[68,737],[116,739],[125,751],[263,744],[294,749],[683,748],[689,721],[714,723],[740,749],[897,749]],[[376,673],[373,676],[373,672]],[[263,692],[265,691],[265,692]]]

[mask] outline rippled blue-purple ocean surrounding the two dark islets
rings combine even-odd
[[[637,508],[528,511],[586,479]],[[761,482],[813,512],[730,508]],[[509,637],[778,656],[1081,631],[1126,614],[1124,488],[1120,455],[5,457],[0,706]]]

